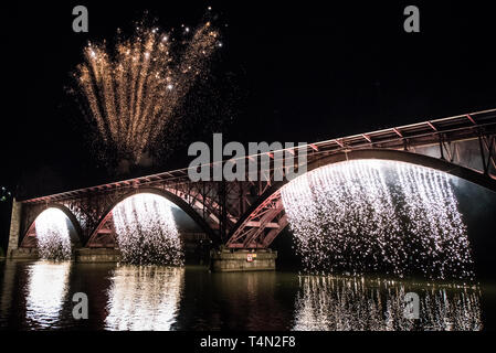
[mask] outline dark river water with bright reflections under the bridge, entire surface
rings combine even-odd
[[[0,329],[494,330],[495,286],[205,267],[0,263]],[[88,298],[75,320],[73,296]],[[419,296],[419,320],[404,315]]]

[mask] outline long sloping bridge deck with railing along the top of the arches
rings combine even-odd
[[[407,149],[408,147],[436,145],[442,141],[476,139],[483,130],[496,128],[496,109],[465,114],[443,119],[428,120],[423,122],[393,127],[389,129],[365,132],[349,137],[336,138],[327,141],[297,146],[281,151],[291,151],[292,154],[306,150],[308,156],[318,157],[331,154],[347,150],[363,148],[389,148]],[[488,148],[490,151],[490,148]],[[252,154],[243,159],[256,158],[261,154]],[[223,161],[222,161],[223,162]],[[212,167],[215,163],[210,163]],[[123,188],[143,188],[158,182],[181,182],[187,181],[189,168],[172,170],[168,172],[128,179],[124,181],[101,184],[91,188],[63,192],[53,195],[23,200],[22,203],[51,203],[81,197],[85,194],[108,192]]]

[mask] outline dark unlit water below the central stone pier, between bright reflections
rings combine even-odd
[[[293,278],[272,271],[209,274],[200,268],[189,269],[177,328],[288,330],[294,290],[288,293],[288,288],[282,289],[284,284],[292,286]]]

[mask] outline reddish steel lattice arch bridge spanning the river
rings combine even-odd
[[[287,149],[307,152],[307,170],[352,159],[387,159],[442,170],[496,191],[496,109]],[[129,195],[163,195],[217,243],[231,248],[266,248],[287,225],[274,181],[275,153],[267,181],[192,182],[188,169],[15,202],[9,250],[35,246],[36,216],[46,207],[64,211],[86,247],[114,247],[113,207]],[[258,160],[266,154],[246,157]],[[276,164],[278,165],[278,164]],[[210,164],[212,168],[212,164]],[[246,178],[247,179],[247,178]],[[286,181],[287,182],[287,181]]]

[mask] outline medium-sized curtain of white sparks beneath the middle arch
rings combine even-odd
[[[117,204],[112,214],[124,263],[183,265],[182,242],[165,197],[137,194]]]

